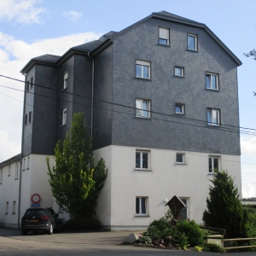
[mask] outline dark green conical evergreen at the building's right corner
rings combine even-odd
[[[211,182],[207,210],[203,212],[204,223],[225,229],[225,236],[229,238],[245,236],[247,215],[242,209],[234,179],[223,171],[216,172]]]

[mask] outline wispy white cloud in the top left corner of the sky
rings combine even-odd
[[[15,20],[19,23],[39,23],[44,8],[35,5],[40,0],[1,0],[0,20]]]

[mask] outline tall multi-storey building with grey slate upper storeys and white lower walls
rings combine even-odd
[[[37,162],[47,180],[44,157],[70,131],[73,113],[84,112],[95,157],[108,166],[96,209],[106,229],[145,228],[173,195],[187,205],[185,217],[201,223],[214,168],[229,170],[241,191],[240,65],[206,25],[165,11],[62,56],[32,59],[21,70],[33,82],[22,162],[30,157],[35,166],[33,176],[20,172],[30,179],[24,208],[33,193],[51,195],[49,184],[46,192],[35,186]]]

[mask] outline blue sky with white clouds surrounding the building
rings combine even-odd
[[[243,55],[256,48],[255,9],[255,0],[0,0],[0,75],[24,81],[20,70],[33,57],[63,55],[165,10],[206,24],[241,60],[240,126],[256,130],[256,61]],[[23,90],[24,83],[0,77],[0,162],[20,154]],[[256,197],[256,131],[247,131],[241,133],[244,198]]]

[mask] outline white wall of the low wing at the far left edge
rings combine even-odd
[[[10,172],[9,172],[10,166]],[[0,226],[18,228],[18,206],[19,206],[19,183],[20,183],[20,164],[18,177],[16,177],[17,162],[12,162],[3,166],[3,182],[0,183]],[[13,204],[15,201],[15,209]],[[6,202],[9,202],[8,211]]]

